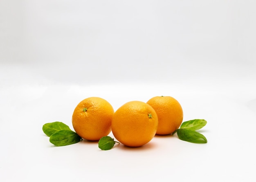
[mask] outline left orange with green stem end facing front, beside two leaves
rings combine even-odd
[[[99,140],[111,132],[114,109],[108,101],[89,97],[74,109],[72,125],[75,132],[86,140]]]

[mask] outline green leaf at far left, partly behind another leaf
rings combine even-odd
[[[58,132],[60,130],[70,130],[70,127],[68,127],[67,125],[65,125],[62,122],[56,121],[53,123],[46,123],[43,125],[43,132],[47,135],[47,136],[51,136],[52,134],[54,134],[55,132]]]

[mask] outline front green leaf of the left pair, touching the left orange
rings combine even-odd
[[[65,146],[78,143],[81,137],[71,130],[60,130],[50,136],[50,143],[56,146]]]

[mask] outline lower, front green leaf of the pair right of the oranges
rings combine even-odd
[[[204,135],[190,129],[177,129],[177,135],[180,140],[184,140],[187,142],[207,143],[207,139]]]

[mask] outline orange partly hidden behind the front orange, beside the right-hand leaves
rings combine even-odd
[[[156,134],[167,135],[178,129],[183,120],[183,110],[180,103],[171,96],[155,96],[147,102],[158,117]]]

